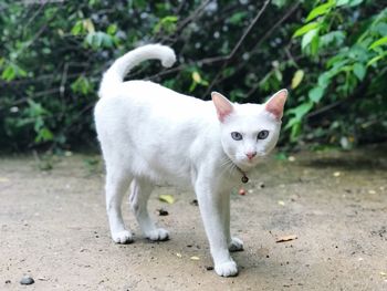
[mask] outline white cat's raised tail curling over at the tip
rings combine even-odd
[[[161,44],[147,44],[127,52],[104,73],[98,92],[100,97],[114,91],[114,87],[124,81],[125,75],[133,67],[146,60],[160,60],[164,66],[169,67],[176,62],[176,55],[172,49]]]

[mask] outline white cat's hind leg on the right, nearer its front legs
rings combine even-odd
[[[148,199],[154,186],[143,179],[133,179],[130,184],[130,207],[145,237],[149,240],[168,240],[169,233],[164,228],[157,228],[148,212]]]

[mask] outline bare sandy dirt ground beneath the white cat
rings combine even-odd
[[[52,169],[50,169],[52,167]],[[387,147],[266,159],[232,195],[240,273],[220,278],[192,193],[159,187],[171,239],[112,242],[98,156],[0,158],[0,290],[387,290]],[[176,202],[158,199],[171,194]],[[168,216],[158,216],[157,209]],[[275,242],[279,237],[297,239]],[[197,257],[192,260],[191,257]],[[35,283],[21,285],[30,274]]]

